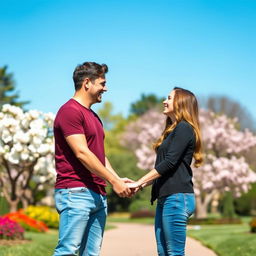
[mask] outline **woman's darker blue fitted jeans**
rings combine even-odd
[[[155,235],[159,256],[184,255],[187,220],[194,211],[193,193],[177,193],[158,199]]]

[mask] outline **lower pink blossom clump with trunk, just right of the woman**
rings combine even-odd
[[[205,164],[194,169],[193,173],[197,218],[207,217],[207,208],[214,196],[223,198],[231,192],[233,197],[239,197],[248,192],[250,184],[256,181],[255,173],[243,157],[232,156],[229,159],[206,154]]]

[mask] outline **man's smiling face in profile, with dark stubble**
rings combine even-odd
[[[93,103],[99,103],[102,100],[102,94],[107,91],[105,76],[95,79],[90,82],[90,94]]]

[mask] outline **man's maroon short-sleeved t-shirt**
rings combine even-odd
[[[87,187],[105,195],[106,182],[91,173],[74,155],[65,137],[84,134],[88,148],[105,165],[104,131],[99,117],[74,99],[66,102],[54,121],[55,188]]]

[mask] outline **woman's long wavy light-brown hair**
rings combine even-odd
[[[196,136],[196,147],[193,155],[195,159],[194,166],[199,167],[203,163],[203,154],[197,99],[195,95],[188,90],[179,87],[175,87],[173,90],[175,91],[173,100],[173,115],[175,121],[172,122],[171,118],[167,117],[165,129],[159,139],[153,144],[153,148],[157,150],[167,135],[174,130],[176,125],[180,121],[185,120],[194,129]]]

